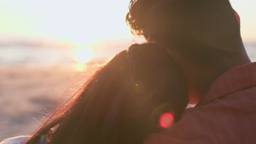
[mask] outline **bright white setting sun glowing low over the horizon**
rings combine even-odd
[[[94,56],[94,52],[88,48],[80,48],[74,52],[74,59],[80,63],[87,63]]]

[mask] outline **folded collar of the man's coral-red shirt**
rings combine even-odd
[[[232,68],[219,76],[199,104],[203,105],[224,95],[256,86],[256,62]]]

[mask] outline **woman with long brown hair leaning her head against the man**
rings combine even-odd
[[[171,125],[163,116],[177,122],[188,104],[183,74],[153,43],[118,53],[79,93],[23,143],[143,143]]]

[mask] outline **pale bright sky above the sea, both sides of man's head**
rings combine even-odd
[[[230,0],[241,17],[243,40],[256,41],[256,1]],[[42,38],[89,45],[131,39],[129,0],[0,0],[0,40]]]

